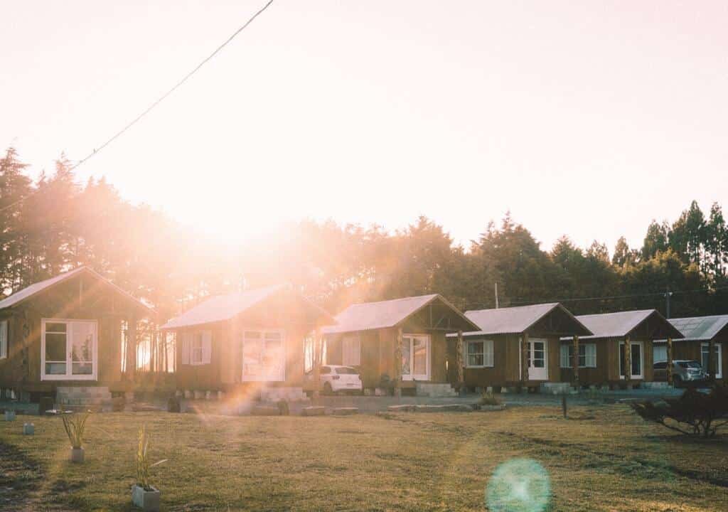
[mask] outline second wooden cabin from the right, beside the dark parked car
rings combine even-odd
[[[578,382],[581,385],[622,387],[652,382],[654,340],[683,337],[657,310],[579,315],[577,320],[593,332],[579,339]],[[574,379],[570,361],[573,350],[571,339],[562,339],[561,379]],[[625,369],[628,369],[626,374]]]

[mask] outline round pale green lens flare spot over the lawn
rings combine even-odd
[[[543,512],[550,500],[548,473],[533,459],[503,462],[486,488],[486,505],[492,512]]]

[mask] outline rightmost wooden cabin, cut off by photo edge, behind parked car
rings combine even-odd
[[[728,365],[728,315],[670,318],[668,321],[685,336],[673,344],[673,360],[698,361],[712,380],[726,382],[724,369]],[[655,342],[653,361],[668,361],[666,340]]]

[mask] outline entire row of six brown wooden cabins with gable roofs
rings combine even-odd
[[[122,323],[154,310],[87,267],[0,301],[0,388],[37,401],[67,387],[134,389]],[[287,286],[214,296],[162,326],[175,333],[175,381],[277,400],[304,398],[323,363],[360,369],[367,390],[652,382],[652,361],[703,361],[723,380],[728,315],[666,320],[656,310],[574,316],[562,304],[460,312],[437,294],[353,304],[333,316]],[[126,354],[127,367],[135,354]],[[135,366],[131,366],[132,368]],[[0,395],[0,398],[4,398]]]

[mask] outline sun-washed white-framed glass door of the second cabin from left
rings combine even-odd
[[[243,382],[285,380],[285,345],[282,331],[245,331],[242,336]]]

